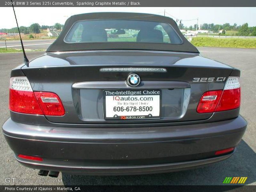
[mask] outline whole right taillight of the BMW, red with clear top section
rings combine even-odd
[[[212,113],[240,107],[239,77],[228,77],[224,90],[205,92],[197,106],[198,113]]]

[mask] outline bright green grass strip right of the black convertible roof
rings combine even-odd
[[[194,37],[191,43],[197,47],[256,48],[256,38],[211,38]]]

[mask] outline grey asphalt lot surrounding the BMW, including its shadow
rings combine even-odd
[[[62,182],[40,182],[38,185],[222,185],[225,177],[248,177],[245,184],[256,185],[256,88],[254,76],[256,74],[256,49],[234,48],[199,48],[202,55],[214,60],[227,63],[241,70],[242,103],[241,115],[248,121],[247,131],[238,145],[236,153],[229,159],[212,164],[204,168],[171,172],[164,174],[137,176],[83,176],[60,174]],[[43,52],[28,52],[29,59]],[[10,71],[22,62],[22,53],[0,54],[0,126],[9,118],[8,92]],[[19,179],[42,179],[37,170],[28,169],[20,165],[13,158],[13,154],[4,136],[0,133],[0,185],[29,184],[6,183],[6,177]],[[45,180],[51,177],[43,177]],[[35,184],[35,183],[34,183]]]

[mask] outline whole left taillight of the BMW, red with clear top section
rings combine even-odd
[[[51,92],[33,92],[27,77],[11,77],[9,108],[14,112],[34,115],[65,114],[58,95]]]

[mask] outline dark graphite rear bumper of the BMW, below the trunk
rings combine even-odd
[[[28,125],[7,120],[5,139],[23,165],[92,175],[184,170],[227,159],[247,123],[243,117],[193,125],[133,128],[74,128]],[[40,156],[43,162],[17,155]]]

